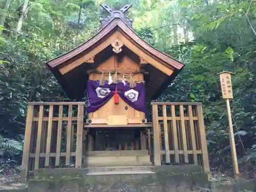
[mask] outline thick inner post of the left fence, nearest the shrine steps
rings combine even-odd
[[[76,132],[76,168],[80,168],[82,166],[83,112],[83,104],[79,104]]]

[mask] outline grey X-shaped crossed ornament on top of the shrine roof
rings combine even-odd
[[[125,5],[123,8],[121,8],[120,10],[113,10],[111,9],[108,5],[106,4],[100,4],[100,6],[108,11],[108,13],[110,14],[110,16],[106,17],[106,18],[100,18],[100,29],[102,29],[104,26],[106,26],[108,23],[111,22],[111,20],[113,20],[114,18],[120,18],[123,20],[123,22],[129,26],[129,27],[132,27],[132,20],[125,17],[124,16],[124,13],[129,10],[132,5]]]

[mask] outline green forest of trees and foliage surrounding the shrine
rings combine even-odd
[[[158,101],[202,102],[211,170],[232,169],[217,73],[232,75],[232,118],[242,172],[256,162],[256,1],[0,0],[0,173],[21,163],[28,101],[67,101],[45,62],[82,44],[104,11],[133,4],[133,28],[186,63]],[[255,170],[256,173],[256,170]]]

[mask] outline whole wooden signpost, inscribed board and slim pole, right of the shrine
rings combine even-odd
[[[226,104],[227,104],[227,113],[228,113],[228,121],[229,121],[229,142],[230,142],[232,162],[233,162],[233,174],[234,174],[234,177],[237,178],[239,174],[238,159],[237,159],[236,144],[234,143],[233,124],[232,124],[232,117],[231,117],[230,104],[229,104],[229,99],[233,98],[231,74],[233,73],[227,72],[227,71],[218,73],[218,75],[220,75],[222,97],[223,99],[226,100]]]

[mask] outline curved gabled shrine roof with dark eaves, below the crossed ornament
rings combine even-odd
[[[184,67],[184,63],[147,44],[122,17],[114,17],[84,44],[47,62],[69,97],[79,100],[84,96],[89,79],[86,71],[95,68],[103,58],[116,54],[111,47],[115,39],[122,41],[126,53],[132,52],[140,58],[138,62],[145,62],[144,69],[149,72],[145,79],[147,99],[159,97]]]

